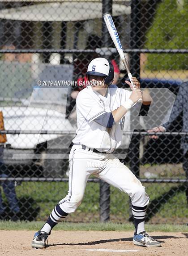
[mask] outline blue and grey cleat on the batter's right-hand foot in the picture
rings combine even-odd
[[[145,247],[160,247],[161,243],[154,240],[149,236],[149,234],[141,232],[139,234],[134,234],[133,243],[135,245],[145,246]]]

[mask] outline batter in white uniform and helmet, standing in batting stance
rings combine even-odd
[[[81,204],[90,175],[128,193],[132,202],[135,233],[133,243],[145,247],[159,247],[144,227],[149,196],[136,176],[112,152],[121,144],[124,116],[142,99],[148,104],[152,99],[140,90],[136,77],[126,83],[132,91],[112,85],[114,70],[106,58],[93,59],[86,72],[88,85],[77,96],[77,135],[69,155],[68,194],[58,202],[43,227],[34,234],[31,246],[44,248],[51,229],[76,211]]]

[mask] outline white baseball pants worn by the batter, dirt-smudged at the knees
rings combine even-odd
[[[76,211],[81,204],[90,175],[95,175],[128,193],[134,206],[145,207],[149,203],[150,198],[145,192],[145,187],[132,171],[112,154],[92,153],[87,148],[82,149],[81,145],[73,145],[69,165],[68,195],[59,202],[60,208],[66,213]]]

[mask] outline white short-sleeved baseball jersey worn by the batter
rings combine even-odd
[[[132,91],[110,85],[107,95],[102,96],[87,86],[77,96],[77,135],[73,139],[74,144],[83,144],[98,151],[111,153],[121,144],[125,117],[119,123],[113,124],[111,129],[94,121],[106,112],[119,108]]]

